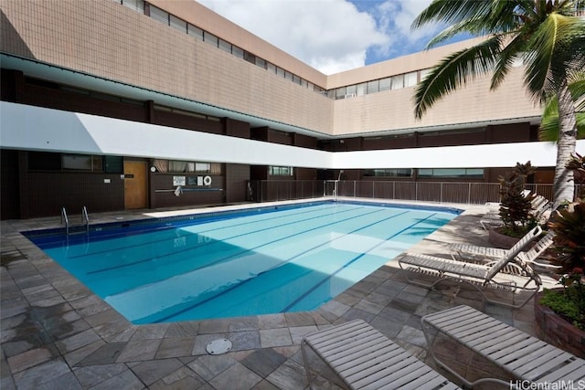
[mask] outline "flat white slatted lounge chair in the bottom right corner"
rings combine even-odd
[[[525,332],[476,311],[457,306],[428,314],[420,320],[432,358],[442,368],[473,388],[495,382],[505,388],[561,389],[585,384],[585,360],[558,349]],[[470,382],[433,352],[432,334],[440,332],[502,368],[515,381],[481,378]],[[526,382],[525,382],[526,381]]]

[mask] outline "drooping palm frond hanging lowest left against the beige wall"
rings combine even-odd
[[[420,119],[435,101],[465,85],[467,79],[493,69],[499,54],[499,39],[492,37],[443,58],[415,90],[416,118]]]

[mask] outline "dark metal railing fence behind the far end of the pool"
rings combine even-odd
[[[527,184],[527,189],[549,200],[552,184]],[[577,193],[578,188],[576,188]],[[250,199],[256,202],[345,196],[390,200],[484,205],[500,201],[499,183],[382,182],[337,180],[251,181]]]

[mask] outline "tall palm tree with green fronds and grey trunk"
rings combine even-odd
[[[415,116],[456,90],[467,79],[493,72],[491,89],[505,79],[512,64],[522,59],[525,84],[535,100],[558,97],[558,145],[554,205],[572,201],[572,172],[565,168],[575,153],[577,129],[569,80],[585,69],[585,18],[575,16],[584,0],[433,0],[412,23],[448,27],[428,47],[457,34],[485,39],[443,58],[415,92]]]

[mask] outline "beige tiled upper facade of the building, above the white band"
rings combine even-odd
[[[452,50],[470,44],[325,76],[196,2],[150,3],[326,89],[429,69]],[[491,121],[529,121],[540,114],[526,95],[520,69],[514,69],[495,92],[489,90],[488,79],[479,79],[415,121],[413,87],[329,99],[112,0],[5,0],[1,6],[5,20],[0,49],[6,53],[324,136],[474,127]]]

